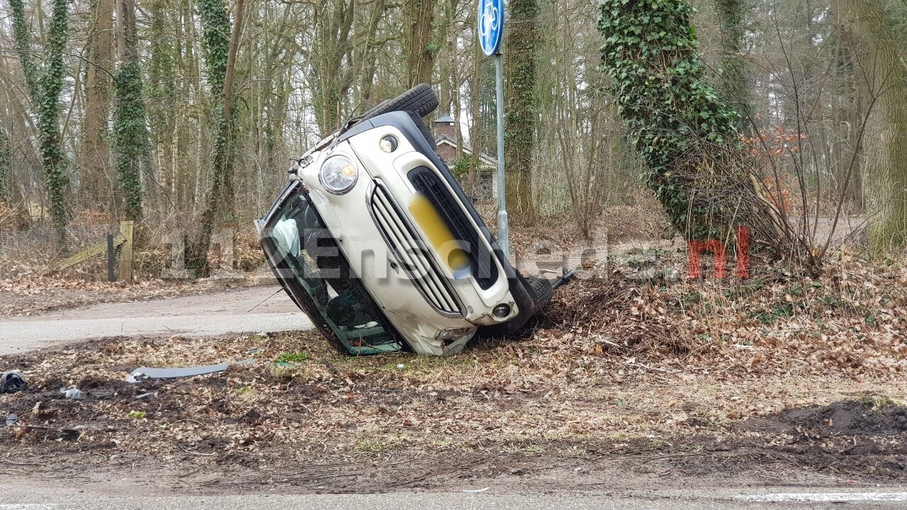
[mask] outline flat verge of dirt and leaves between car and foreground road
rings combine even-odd
[[[907,476],[904,410],[888,400],[907,390],[902,380],[727,378],[619,358],[604,371],[589,356],[561,369],[533,352],[554,346],[533,342],[480,343],[456,358],[361,359],[336,355],[312,333],[110,338],[2,357],[0,367],[21,369],[33,387],[0,396],[0,417],[20,419],[0,430],[0,459],[27,459],[27,476],[84,483],[125,476],[153,485],[180,474],[166,479],[201,493]],[[275,364],[287,352],[300,361]],[[124,380],[139,366],[247,358],[261,361],[198,378]],[[60,387],[86,398],[67,400]]]

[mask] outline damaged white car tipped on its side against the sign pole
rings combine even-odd
[[[551,300],[551,282],[511,266],[438,156],[422,120],[436,107],[422,84],[346,123],[298,159],[258,221],[290,298],[350,354],[455,354]]]

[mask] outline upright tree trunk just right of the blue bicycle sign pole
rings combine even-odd
[[[513,0],[505,58],[504,169],[507,208],[514,223],[533,225],[532,149],[535,146],[535,70],[539,37],[536,0]]]

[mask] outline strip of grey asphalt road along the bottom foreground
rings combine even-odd
[[[721,490],[678,491],[658,495],[512,495],[396,493],[375,495],[229,495],[105,497],[75,489],[0,486],[0,510],[786,510],[824,509],[829,505],[854,510],[907,506],[907,493],[879,489],[874,493],[766,493]],[[779,502],[754,502],[764,497]],[[791,501],[791,499],[794,501]],[[869,501],[867,501],[869,500]],[[834,503],[832,503],[834,502]]]

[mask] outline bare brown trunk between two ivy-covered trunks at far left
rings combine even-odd
[[[107,121],[111,111],[113,70],[113,0],[98,0],[88,41],[85,72],[85,120],[79,167],[79,197],[89,208],[112,203]]]

